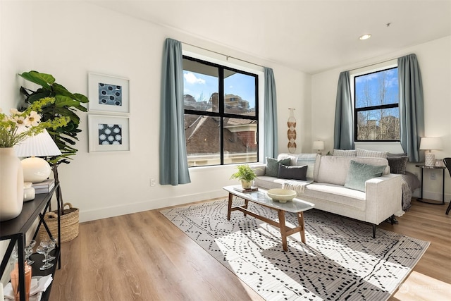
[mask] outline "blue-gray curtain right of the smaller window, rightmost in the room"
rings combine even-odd
[[[401,146],[409,161],[419,162],[420,140],[424,136],[424,98],[421,72],[415,54],[397,59],[400,81]]]

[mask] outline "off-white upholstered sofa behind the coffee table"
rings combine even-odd
[[[291,157],[291,165],[303,164],[298,156],[305,154],[280,154],[278,160]],[[372,166],[386,166],[382,176],[371,178],[365,182],[365,191],[345,187],[347,172],[351,161]],[[299,199],[314,203],[316,209],[333,214],[347,216],[373,225],[373,237],[376,237],[376,225],[402,216],[401,176],[390,173],[388,160],[383,158],[369,158],[357,156],[321,156],[317,155],[314,164],[307,164],[313,168],[313,178],[307,180],[289,180],[264,176],[265,166],[254,166],[257,178],[254,185],[259,188],[282,188],[287,181],[292,185],[304,185],[303,192],[298,193]],[[308,170],[308,169],[307,169]],[[309,173],[307,172],[307,176]]]

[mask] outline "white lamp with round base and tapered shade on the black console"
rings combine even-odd
[[[29,157],[22,160],[24,182],[39,183],[49,178],[49,163],[38,156],[58,156],[61,154],[47,130],[14,146],[16,156]]]

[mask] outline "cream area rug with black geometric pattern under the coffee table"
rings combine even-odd
[[[242,204],[240,199],[235,204]],[[283,251],[278,228],[240,211],[227,220],[227,199],[161,213],[266,300],[387,300],[426,252],[429,242],[376,229],[323,211],[304,212],[299,233]],[[276,220],[277,212],[249,202]],[[297,226],[286,214],[287,226]]]

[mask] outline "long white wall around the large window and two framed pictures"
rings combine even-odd
[[[15,4],[2,2],[1,8],[1,16],[7,16]],[[302,110],[309,101],[310,76],[302,72],[92,4],[32,1],[27,2],[26,9],[30,13],[25,25],[21,25],[22,16],[2,20],[2,97],[18,94],[21,83],[16,73],[28,70],[50,73],[69,91],[86,95],[89,72],[130,79],[130,152],[88,153],[87,114],[80,113],[82,133],[76,145],[79,152],[70,164],[58,168],[63,198],[80,208],[80,221],[225,196],[221,188],[236,183],[229,180],[233,166],[218,166],[193,168],[192,183],[187,185],[149,185],[150,178],[158,183],[159,177],[161,58],[166,37],[273,68],[281,123],[279,136],[286,137],[290,106],[296,107],[303,127],[309,127]],[[27,39],[16,34],[18,26],[23,26]],[[4,32],[15,33],[4,39]],[[27,47],[26,53],[23,47]],[[18,59],[4,69],[10,54]],[[8,81],[4,82],[4,78]],[[7,104],[12,106],[15,102]],[[285,141],[286,138],[280,138],[281,151],[286,150]]]

